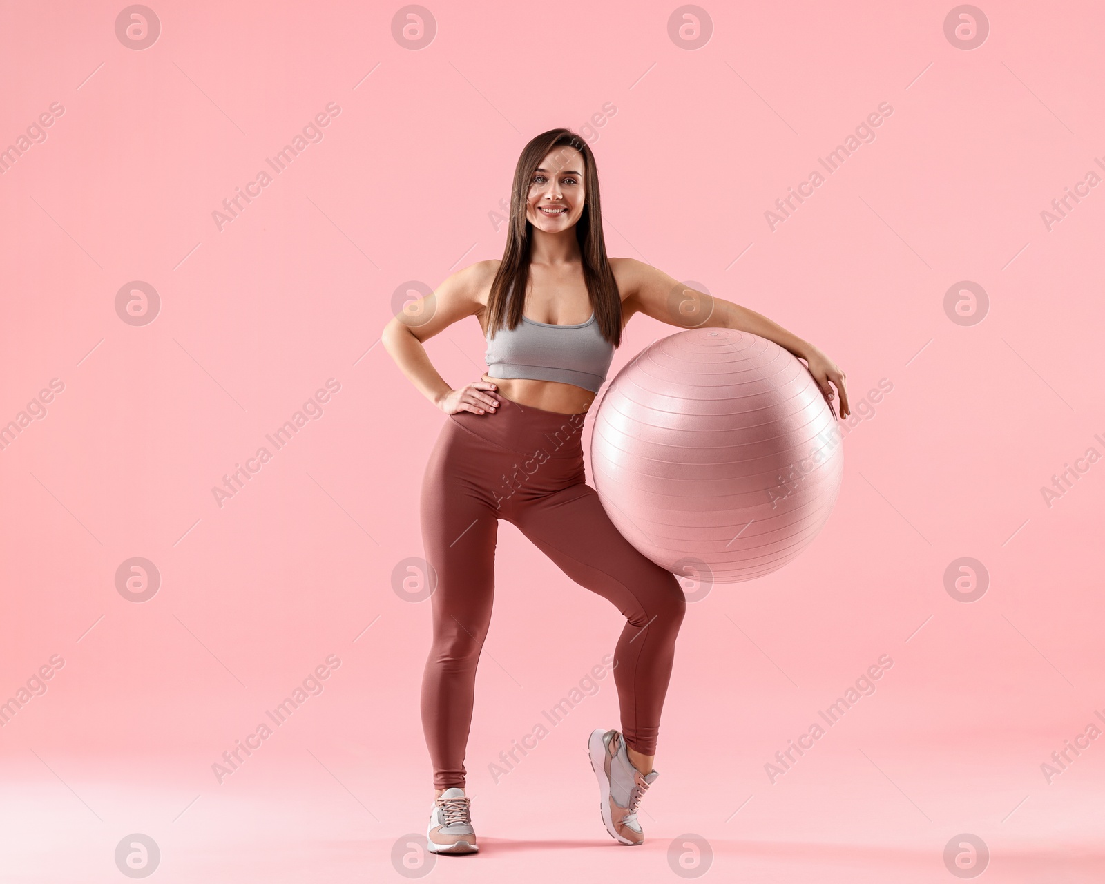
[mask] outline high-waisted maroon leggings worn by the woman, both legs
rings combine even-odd
[[[586,414],[497,398],[497,413],[449,417],[422,481],[422,539],[436,576],[422,727],[438,789],[465,783],[476,664],[495,591],[498,519],[517,527],[568,577],[625,617],[614,649],[614,684],[625,744],[642,755],[655,755],[675,636],[686,610],[675,576],[629,544],[586,484],[580,442]]]

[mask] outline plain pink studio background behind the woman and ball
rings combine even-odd
[[[651,0],[434,2],[412,50],[398,6],[176,2],[139,51],[120,4],[6,4],[0,148],[64,113],[0,176],[0,423],[64,389],[0,451],[0,699],[64,666],[0,728],[4,881],[127,880],[136,832],[160,881],[400,880],[432,797],[430,610],[392,572],[422,555],[445,418],[379,335],[404,282],[501,256],[488,213],[560,125],[598,158],[611,255],[813,341],[857,415],[811,548],[688,607],[640,850],[603,831],[585,757],[618,726],[611,680],[488,772],[621,625],[501,526],[467,756],[483,850],[414,872],[676,881],[669,846],[694,833],[712,880],[950,882],[945,845],[971,833],[986,881],[1099,881],[1105,740],[1051,783],[1040,766],[1105,712],[1105,464],[1050,507],[1040,490],[1105,453],[1105,189],[1050,232],[1041,211],[1105,155],[1105,11],[987,2],[966,51],[953,6],[709,4],[688,50]],[[323,140],[220,232],[222,200],[330,102]],[[765,211],[882,102],[875,140],[772,232]],[[116,313],[136,280],[160,297],[147,325]],[[945,311],[964,280],[989,297],[969,326]],[[674,330],[634,318],[610,377]],[[474,319],[428,349],[454,386],[484,369]],[[220,507],[328,378],[323,414]],[[143,603],[115,585],[135,556],[161,575]],[[960,557],[989,573],[971,603],[945,588]],[[220,785],[212,764],[330,654],[325,691]],[[883,654],[877,691],[772,785],[765,764]]]

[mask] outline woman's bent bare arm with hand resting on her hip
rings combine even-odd
[[[487,265],[491,265],[490,267]],[[380,335],[383,349],[422,396],[446,414],[472,411],[482,414],[498,399],[482,390],[494,390],[495,385],[476,380],[454,390],[430,361],[422,343],[453,323],[482,309],[476,301],[481,287],[494,275],[494,262],[481,261],[460,270],[446,278],[431,295],[407,304],[392,318]]]

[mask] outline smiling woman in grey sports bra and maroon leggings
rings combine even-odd
[[[491,622],[501,518],[625,615],[613,655],[623,729],[596,729],[588,751],[607,831],[623,844],[644,840],[636,811],[659,774],[660,713],[686,602],[675,577],[611,524],[585,483],[580,445],[587,410],[635,313],[680,328],[769,338],[807,361],[828,400],[835,385],[841,417],[849,414],[843,372],[813,345],[640,261],[607,257],[598,171],[582,139],[551,129],[526,145],[515,168],[503,260],[454,273],[382,335],[402,372],[451,418],[430,455],[421,497],[427,560],[438,580],[422,681],[436,792],[428,828],[434,853],[478,849],[464,794],[464,751]],[[488,370],[453,389],[422,344],[473,315],[487,340]]]

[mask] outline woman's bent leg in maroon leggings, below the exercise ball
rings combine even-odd
[[[622,734],[631,760],[634,765],[640,760],[643,767],[639,769],[650,772],[675,638],[686,610],[682,587],[673,573],[646,559],[622,536],[598,493],[582,481],[518,499],[511,520],[568,577],[609,599],[624,614],[625,627],[614,651]]]

